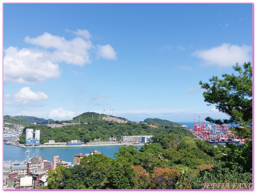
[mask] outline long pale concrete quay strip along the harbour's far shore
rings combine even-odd
[[[94,144],[94,145],[65,145],[65,146],[44,146],[44,145],[38,145],[38,146],[26,146],[24,144],[16,144],[15,142],[12,142],[10,144],[6,144],[6,145],[13,145],[16,147],[22,147],[22,148],[51,148],[51,147],[100,147],[100,146],[129,146],[129,145],[133,145],[133,146],[143,146],[143,143],[116,143],[116,144]]]

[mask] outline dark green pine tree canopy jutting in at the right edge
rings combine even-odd
[[[210,83],[199,82],[207,105],[215,104],[216,108],[230,116],[227,120],[215,120],[207,117],[206,120],[217,124],[240,124],[236,133],[243,138],[252,137],[252,64],[244,63],[242,69],[238,63],[233,66],[235,73],[222,74],[223,79],[213,76]]]

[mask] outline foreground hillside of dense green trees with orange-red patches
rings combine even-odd
[[[232,188],[226,184],[251,189],[251,166],[241,159],[235,165],[239,171],[234,169],[228,164],[235,161],[234,153],[222,154],[222,148],[177,134],[157,135],[140,150],[120,147],[115,158],[94,154],[72,168],[58,166],[49,171],[48,184],[40,189],[207,189],[207,183],[215,189]],[[242,148],[237,150],[242,156]]]

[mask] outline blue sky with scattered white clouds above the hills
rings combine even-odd
[[[252,4],[3,4],[3,115],[227,118],[199,81],[252,61]]]

